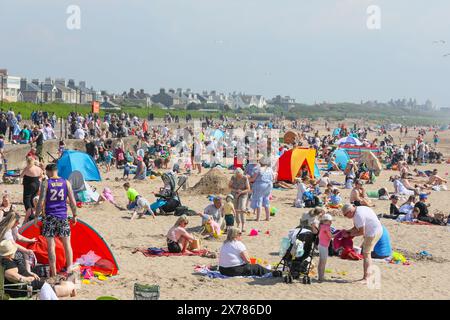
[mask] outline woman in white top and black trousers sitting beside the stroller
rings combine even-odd
[[[220,248],[219,271],[224,276],[258,276],[272,273],[259,264],[251,264],[247,247],[242,243],[242,232],[238,228],[228,229],[227,239]]]

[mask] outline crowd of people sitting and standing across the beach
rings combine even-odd
[[[30,124],[24,122],[20,113],[15,115],[12,110],[0,113],[0,157],[2,160],[6,158],[4,146],[8,129],[8,141],[12,144],[31,144],[26,166],[20,173],[24,206],[22,224],[30,221],[37,223],[41,217],[42,234],[48,242],[51,276],[57,275],[55,237],[62,240],[67,276],[58,284],[51,284],[50,290],[57,296],[74,295],[69,219],[72,219],[72,223],[77,221],[77,195],[72,191],[70,182],[58,176],[54,161],[44,161],[43,145],[48,139],[57,139],[54,130],[58,119],[47,112],[33,112],[31,120],[33,124],[30,129]],[[83,140],[86,153],[106,174],[112,170],[123,170],[123,188],[132,219],[146,215],[157,219],[158,215],[163,214],[159,207],[154,207],[154,203],[133,188],[133,184],[138,181],[160,176],[164,172],[189,176],[202,174],[203,168],[220,167],[233,170],[227,183],[230,193],[225,197],[213,195],[211,201],[205,204],[203,212],[198,214],[205,236],[220,238],[222,234],[226,234],[218,261],[219,271],[225,276],[265,276],[269,273],[273,276],[281,275],[279,270],[252,263],[251,255],[242,239],[242,235],[247,232],[248,217],[254,217],[255,222],[262,218],[264,221],[271,220],[274,187],[296,188],[293,207],[310,208],[310,211],[301,215],[299,227],[294,233],[301,234],[310,244],[318,242],[320,282],[325,280],[330,243],[338,233],[342,238],[363,237],[362,280],[367,281],[371,276],[374,248],[387,235],[387,229],[383,227],[380,219],[422,221],[438,225],[447,223],[448,218],[433,215],[429,210],[430,204],[427,203],[431,192],[447,190],[447,180],[438,174],[437,169],[412,169],[416,165],[443,161],[443,155],[437,151],[437,131],[433,136],[434,147],[431,147],[425,143],[424,136],[427,132],[422,129],[418,131],[413,143],[398,144],[384,127],[373,129],[358,127],[356,124],[352,129],[340,125],[339,133],[332,134],[331,127],[325,123],[328,133],[320,135],[319,130],[315,130],[310,122],[246,122],[241,128],[235,122],[222,117],[219,121],[212,118],[202,119],[202,125],[198,128],[188,125],[192,120],[189,117],[186,117],[184,127],[179,125],[179,118],[166,116],[164,120],[164,124],[152,125],[150,119],[139,119],[125,113],[106,114],[101,118],[97,114],[81,115],[71,112],[66,124],[69,130],[68,139]],[[240,139],[237,135],[233,136],[233,131],[237,129],[243,129],[245,137]],[[280,132],[287,130],[301,130],[301,134],[291,145],[279,145]],[[407,130],[408,128],[402,127],[401,134]],[[272,135],[274,131],[276,136]],[[372,133],[376,137],[369,140],[369,134]],[[129,136],[137,139],[130,143],[126,139]],[[347,136],[358,137],[363,147],[379,148],[380,153],[385,155],[382,159],[384,165],[388,169],[398,170],[398,175],[390,177],[394,190],[391,195],[387,188],[375,192],[376,199],[391,201],[389,214],[377,214],[374,211],[376,201],[366,189],[375,179],[373,170],[357,159],[350,159],[344,168],[337,163],[333,151],[336,150],[337,141]],[[59,140],[58,150],[55,150],[58,156],[55,160],[66,150],[67,140],[62,137],[59,137]],[[328,165],[320,178],[311,176],[311,168],[303,165],[295,177],[294,184],[278,181],[277,159],[292,147],[316,150],[317,159]],[[131,180],[130,174],[133,175]],[[332,174],[344,175],[345,182],[333,181]],[[348,199],[344,200],[341,196],[342,189],[351,189]],[[112,199],[110,189],[106,191],[100,197],[101,200]],[[402,197],[407,197],[407,200],[399,205]],[[69,207],[72,212],[70,218]],[[353,228],[337,230],[332,227],[334,216],[339,210],[344,217],[353,220]],[[6,282],[30,283],[36,290],[47,288],[46,282],[42,281],[29,265],[28,256],[32,256],[33,252],[16,243],[36,240],[24,239],[18,233],[19,211],[11,204],[8,193],[4,193],[0,207],[0,256]],[[188,223],[189,218],[181,215],[168,230],[165,240],[169,252],[184,253],[189,250],[190,243],[196,240],[195,235],[186,229]],[[305,230],[308,232],[304,233]],[[311,250],[313,247],[305,246],[299,259],[305,260]]]

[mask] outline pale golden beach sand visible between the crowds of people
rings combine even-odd
[[[398,131],[394,134],[398,136]],[[442,150],[447,156],[450,151],[449,132],[440,133],[442,141],[446,143]],[[412,141],[415,133],[410,130],[405,141]],[[426,139],[430,141],[432,134]],[[437,168],[442,175],[449,169],[448,164],[421,166],[421,169]],[[204,171],[205,174],[208,171]],[[227,178],[231,172],[225,170]],[[383,171],[374,185],[368,190],[378,190],[385,186],[393,191],[388,183],[392,171]],[[126,204],[125,192],[121,188],[122,182],[115,182],[114,178],[120,176],[119,172],[103,174],[104,180],[92,183],[101,190],[108,186],[118,200],[119,205]],[[195,185],[201,176],[192,174],[190,185]],[[343,175],[332,175],[333,180],[342,182]],[[162,186],[161,179],[147,180],[133,183],[142,195],[153,200],[152,192],[158,191]],[[0,185],[0,191],[5,189]],[[8,186],[13,194],[13,201],[21,202],[21,186]],[[213,193],[208,192],[208,193]],[[247,230],[257,228],[262,231],[259,236],[244,236],[250,255],[268,260],[270,263],[279,261],[278,250],[282,237],[289,229],[298,224],[303,212],[308,209],[292,207],[296,191],[273,192],[273,206],[278,213],[269,222],[256,222],[254,217],[248,221]],[[348,199],[349,190],[342,190],[342,196]],[[180,193],[184,205],[201,211],[208,200],[201,193]],[[377,213],[388,213],[389,201],[375,200]],[[433,209],[440,209],[449,214],[449,192],[433,192],[430,196]],[[21,213],[23,207],[18,206]],[[173,216],[145,218],[130,221],[126,211],[120,211],[109,204],[98,206],[85,206],[79,210],[80,219],[94,226],[109,243],[120,267],[119,275],[98,284],[83,285],[76,299],[95,299],[102,295],[112,295],[119,299],[133,298],[133,285],[135,282],[158,284],[161,288],[161,299],[449,299],[450,298],[450,230],[440,226],[418,226],[400,224],[393,220],[382,219],[382,223],[390,232],[394,250],[401,251],[411,258],[411,265],[393,265],[386,262],[377,262],[381,271],[380,289],[369,289],[367,286],[355,283],[362,276],[362,261],[342,260],[332,257],[328,260],[327,269],[332,273],[327,276],[330,282],[317,283],[313,279],[312,285],[303,285],[294,282],[286,285],[282,279],[209,279],[194,274],[195,265],[217,264],[216,259],[202,257],[158,257],[146,258],[141,253],[132,254],[135,247],[165,246],[165,234],[176,220]],[[200,225],[200,217],[190,217],[190,227]],[[337,228],[350,227],[351,220],[336,217],[334,226]],[[269,230],[270,235],[265,235]],[[360,245],[361,238],[355,239]],[[213,251],[218,251],[221,241],[205,241],[204,245]],[[417,253],[426,250],[433,255],[432,260],[420,259]],[[317,258],[315,258],[317,259]],[[316,262],[318,259],[316,260]],[[345,274],[343,274],[343,272]]]

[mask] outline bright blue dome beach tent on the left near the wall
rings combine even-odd
[[[101,181],[95,161],[85,152],[66,150],[58,160],[58,175],[69,179],[73,171],[80,171],[86,181]]]

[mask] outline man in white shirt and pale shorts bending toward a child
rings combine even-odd
[[[342,207],[342,213],[346,218],[353,219],[354,227],[346,230],[349,237],[363,236],[362,254],[364,256],[364,277],[361,282],[366,283],[367,279],[372,275],[371,253],[383,235],[383,227],[376,213],[369,207],[355,207],[352,204],[346,204]]]

